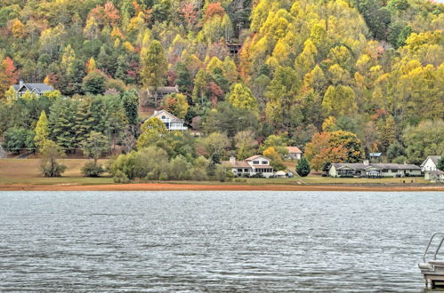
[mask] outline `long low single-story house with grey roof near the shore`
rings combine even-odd
[[[421,168],[398,163],[332,163],[328,170],[331,177],[406,177],[421,176]]]

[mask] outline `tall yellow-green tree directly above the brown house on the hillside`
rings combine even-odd
[[[161,86],[164,84],[167,68],[164,47],[154,40],[148,50],[141,51],[141,79],[145,87]]]

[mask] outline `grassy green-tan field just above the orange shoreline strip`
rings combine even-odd
[[[107,160],[100,160],[103,164]],[[81,167],[87,162],[85,159],[65,159],[62,162],[68,167],[61,178],[43,178],[39,171],[38,159],[1,159],[0,185],[109,185],[112,178],[85,178],[81,174]],[[413,182],[412,182],[413,181]],[[424,178],[325,178],[311,175],[306,178],[234,178],[230,182],[214,181],[171,181],[174,184],[222,184],[222,185],[386,185],[386,184],[430,184]]]

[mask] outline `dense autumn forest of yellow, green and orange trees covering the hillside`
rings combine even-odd
[[[443,29],[426,0],[3,0],[0,135],[36,135],[44,112],[61,147],[94,131],[130,150],[139,96],[178,85],[161,107],[207,144],[187,150],[187,134],[170,158],[291,145],[318,170],[370,152],[418,163],[444,154]],[[19,79],[57,91],[19,100]]]

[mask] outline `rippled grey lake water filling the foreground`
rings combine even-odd
[[[0,192],[0,291],[421,292],[444,193]]]

